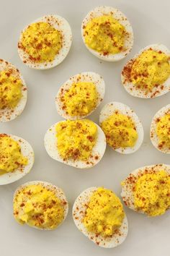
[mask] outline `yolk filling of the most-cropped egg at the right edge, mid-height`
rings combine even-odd
[[[161,116],[156,124],[156,135],[158,136],[158,147],[170,150],[170,113]]]

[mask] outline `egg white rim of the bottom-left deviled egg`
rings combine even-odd
[[[32,181],[32,182],[26,182],[24,184],[22,184],[21,186],[17,187],[17,189],[15,190],[14,192],[14,195],[13,195],[13,203],[14,203],[14,198],[16,197],[17,195],[17,192],[19,192],[21,189],[23,189],[24,187],[27,187],[29,185],[38,185],[38,184],[42,184],[42,186],[46,187],[49,189],[49,187],[51,188],[50,191],[54,191],[55,189],[55,196],[58,197],[61,201],[64,201],[66,202],[66,205],[63,206],[64,208],[64,218],[63,218],[63,221],[66,220],[66,217],[68,215],[68,200],[66,199],[66,195],[64,194],[63,190],[49,182],[42,182],[42,181]],[[58,225],[58,226],[61,226],[61,224],[63,223],[63,221]],[[42,229],[42,228],[38,228],[37,226],[31,226],[29,225],[28,223],[25,223],[27,226],[30,226],[31,228],[34,228],[34,229],[39,229],[39,230],[55,230],[58,228],[58,226],[55,228],[55,229]]]

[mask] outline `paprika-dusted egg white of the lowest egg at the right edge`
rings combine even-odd
[[[135,171],[132,171],[130,174],[133,174],[133,176],[140,176],[141,174],[145,173],[145,171],[160,171],[164,170],[168,174],[170,174],[170,165],[160,163],[160,164],[155,164],[151,166],[143,166],[140,168],[135,169]],[[129,176],[128,176],[129,177]],[[125,204],[128,206],[128,208],[135,210],[134,207],[134,197],[133,197],[133,185],[131,184],[130,181],[126,181],[125,179],[125,184],[122,186],[122,192],[121,192],[121,197],[122,200],[125,202]],[[142,210],[138,210],[138,213],[143,213]]]

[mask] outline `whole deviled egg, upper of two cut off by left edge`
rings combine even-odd
[[[0,59],[0,121],[11,121],[22,114],[27,103],[27,86],[19,70]]]

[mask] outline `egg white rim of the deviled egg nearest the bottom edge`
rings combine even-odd
[[[126,236],[128,235],[128,219],[126,216],[123,219],[122,225],[119,229],[121,236],[119,234],[113,234],[111,237],[107,238],[104,238],[103,236],[95,236],[94,233],[87,231],[84,223],[82,222],[86,212],[86,205],[88,205],[91,195],[93,195],[97,188],[98,187],[89,187],[88,189],[84,190],[84,192],[81,192],[79,197],[76,198],[73,204],[73,221],[79,231],[81,231],[86,237],[88,237],[95,244],[98,244],[100,247],[117,247],[117,245],[124,242]]]

